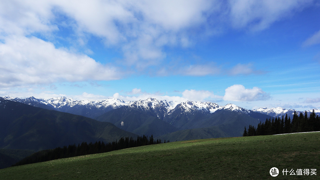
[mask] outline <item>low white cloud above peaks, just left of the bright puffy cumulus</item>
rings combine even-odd
[[[214,95],[213,92],[208,90],[184,90],[182,92],[182,97],[190,101],[204,101],[208,98],[221,99],[220,96]]]

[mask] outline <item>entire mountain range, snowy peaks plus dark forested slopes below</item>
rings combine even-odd
[[[10,149],[25,150],[19,152],[22,156],[30,151],[82,141],[115,141],[123,136],[153,135],[170,141],[242,136],[244,126],[256,126],[285,113],[290,116],[293,111],[280,107],[248,110],[234,104],[178,103],[154,98],[77,101],[66,97],[6,96],[0,97],[0,157],[12,159],[12,155],[2,153]]]

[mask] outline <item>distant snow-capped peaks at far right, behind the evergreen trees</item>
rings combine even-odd
[[[312,110],[313,109],[307,110],[308,116],[310,115],[310,113],[312,113]],[[320,110],[319,109],[315,108],[314,110],[315,110],[316,115],[320,115]],[[270,108],[270,109],[268,109],[267,107],[264,107],[264,108],[260,107],[258,109],[254,109],[252,111],[258,112],[258,113],[262,113],[262,114],[266,114],[266,115],[269,115],[269,116],[272,116],[272,117],[285,116],[286,114],[288,114],[288,116],[292,117],[294,111],[296,111],[296,110],[294,110],[294,109],[287,110],[287,109],[284,109],[282,107],[275,107],[275,108]],[[296,112],[298,113],[298,115],[300,113],[304,114],[303,111],[296,111]]]

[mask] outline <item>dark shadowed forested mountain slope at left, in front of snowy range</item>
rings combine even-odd
[[[0,148],[44,150],[136,136],[111,123],[0,98]]]

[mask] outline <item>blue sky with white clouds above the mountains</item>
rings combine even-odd
[[[0,96],[320,109],[318,0],[0,0]]]

